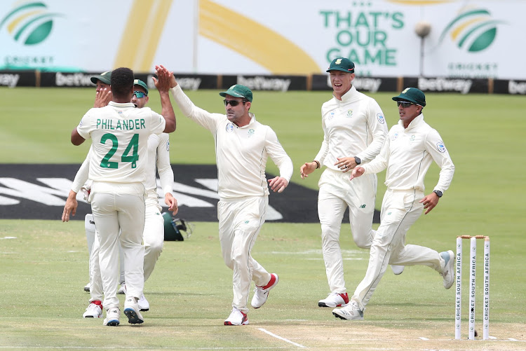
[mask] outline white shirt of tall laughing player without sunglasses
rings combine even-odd
[[[387,135],[387,125],[380,106],[354,86],[340,101],[332,97],[321,106],[323,142],[318,155],[321,165],[339,170],[337,158],[358,156],[367,163],[377,156]]]

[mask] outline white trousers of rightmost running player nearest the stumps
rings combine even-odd
[[[445,262],[438,252],[429,247],[405,245],[407,230],[422,215],[424,205],[419,202],[422,198],[424,193],[421,191],[387,189],[382,201],[381,223],[372,240],[369,266],[352,297],[360,309],[365,309],[388,264],[422,265],[442,272]]]

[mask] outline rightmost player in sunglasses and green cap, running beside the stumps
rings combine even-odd
[[[388,263],[431,267],[442,275],[445,289],[450,289],[454,282],[455,257],[451,250],[439,254],[428,247],[405,245],[405,234],[422,209],[428,214],[450,187],[454,165],[438,132],[424,121],[424,92],[406,88],[393,100],[398,104],[400,121],[389,131],[379,155],[367,165],[356,167],[350,177],[355,181],[364,174],[387,169],[382,221],[372,240],[367,273],[354,291],[351,303],[332,310],[341,319],[363,319],[365,305]],[[424,195],[424,177],[433,161],[440,167],[440,177],[433,191]]]

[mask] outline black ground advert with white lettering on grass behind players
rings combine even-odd
[[[0,219],[60,220],[79,165],[1,165]],[[217,167],[172,165],[173,195],[179,204],[177,217],[188,221],[217,221]],[[267,174],[267,179],[273,178]],[[158,179],[159,184],[159,179]],[[167,211],[164,195],[159,205]],[[83,220],[90,205],[77,196],[79,209],[72,219]],[[291,183],[283,193],[269,196],[267,221],[318,222],[318,191]],[[379,223],[379,213],[375,213]],[[348,214],[344,222],[349,223]]]

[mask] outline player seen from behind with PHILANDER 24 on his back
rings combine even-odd
[[[112,71],[112,102],[99,109],[90,109],[79,126],[72,131],[72,144],[93,139],[89,179],[91,209],[100,240],[99,264],[106,309],[104,325],[119,325],[121,311],[117,298],[119,246],[126,267],[126,299],[124,314],[131,324],[144,322],[137,301],[144,287],[144,199],[147,170],[147,139],[151,134],[173,132],[175,114],[168,90],[171,72],[156,67],[159,81],[154,79],[161,95],[162,113],[148,107],[136,109],[133,96],[133,71],[119,68]],[[76,194],[70,191],[66,205]],[[69,220],[72,207],[65,207],[63,221]],[[120,230],[120,235],[119,235]]]

